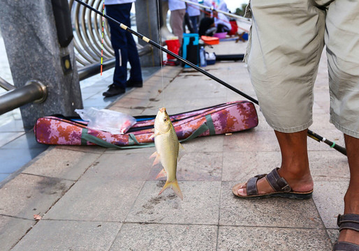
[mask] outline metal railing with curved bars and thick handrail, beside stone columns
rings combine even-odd
[[[98,10],[103,10],[101,4],[103,0],[84,0],[84,2]],[[103,20],[101,15],[97,15],[73,0],[68,0],[68,4],[73,22],[73,45],[79,79],[83,80],[100,73],[101,51],[103,71],[115,67],[115,52],[111,46],[107,20]],[[152,52],[150,45],[137,44],[137,47],[140,56]],[[43,102],[47,98],[46,86],[35,80],[16,88],[0,77],[0,87],[8,91],[0,96],[0,115],[29,102]]]

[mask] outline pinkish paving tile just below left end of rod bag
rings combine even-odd
[[[77,180],[100,154],[54,148],[24,169],[24,173]]]

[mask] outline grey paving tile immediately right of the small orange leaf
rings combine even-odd
[[[105,178],[78,181],[52,206],[44,218],[122,222],[142,185],[143,181],[116,181]]]

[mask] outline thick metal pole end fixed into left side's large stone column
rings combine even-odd
[[[43,102],[46,97],[46,86],[36,80],[30,80],[24,86],[0,96],[0,115],[29,102]]]

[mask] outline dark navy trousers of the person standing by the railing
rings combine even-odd
[[[131,27],[130,10],[132,3],[110,4],[105,6],[106,14],[122,24]],[[108,21],[110,25],[111,44],[115,50],[116,65],[113,84],[126,88],[127,62],[131,65],[129,80],[142,81],[140,58],[133,36],[119,27],[119,24]]]

